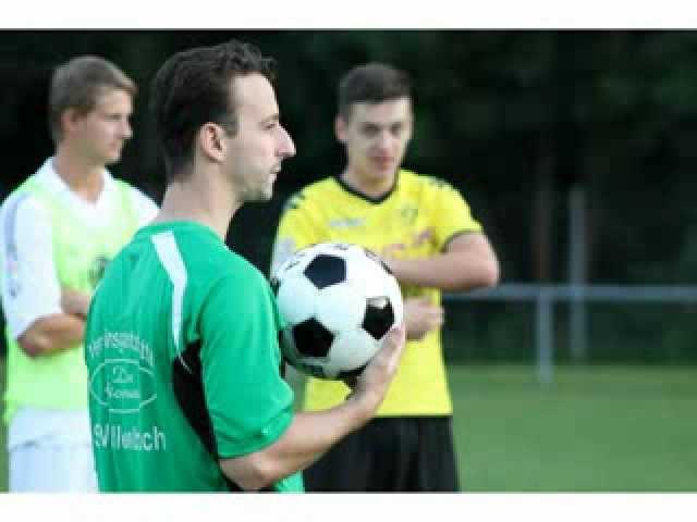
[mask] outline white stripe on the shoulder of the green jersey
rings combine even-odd
[[[170,281],[174,286],[172,290],[172,336],[174,337],[174,346],[179,352],[179,360],[182,362],[188,373],[193,373],[192,370],[184,362],[182,357],[182,347],[180,346],[181,330],[182,330],[182,309],[184,307],[184,288],[186,288],[186,266],[184,266],[184,260],[176,246],[174,234],[172,232],[161,232],[155,234],[152,237],[152,244],[157,251],[157,257],[160,259],[162,266],[170,276]]]

